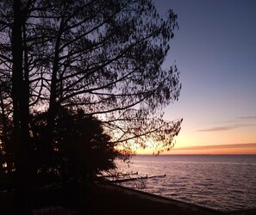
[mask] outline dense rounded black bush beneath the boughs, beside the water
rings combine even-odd
[[[59,168],[68,180],[91,178],[102,170],[116,167],[114,160],[120,153],[115,144],[104,133],[102,123],[83,110],[61,110],[53,137]]]

